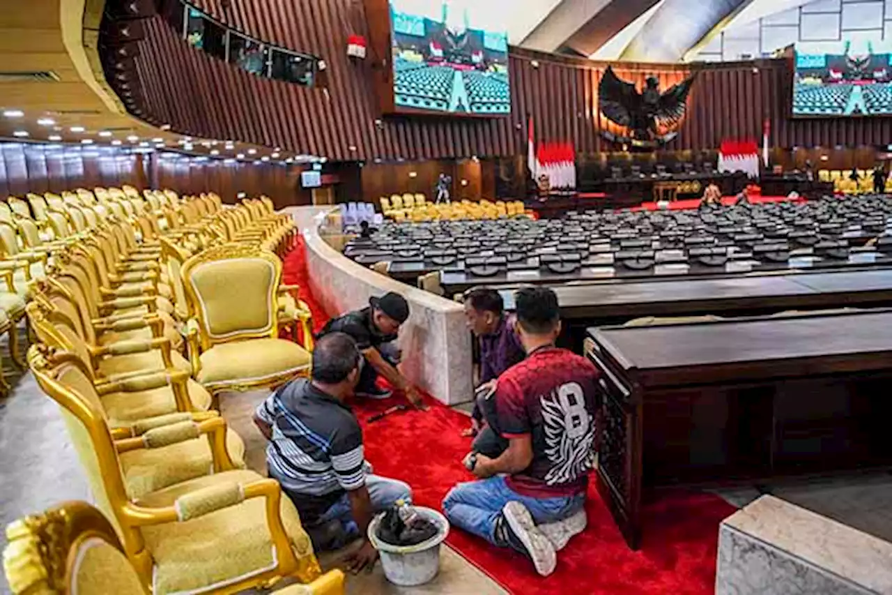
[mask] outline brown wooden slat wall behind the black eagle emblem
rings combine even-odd
[[[357,0],[196,0],[207,13],[252,36],[322,57],[326,88],[265,80],[202,54],[161,17],[145,23],[136,58],[148,111],[157,122],[192,136],[237,139],[333,160],[419,160],[520,155],[526,115],[538,140],[568,140],[577,152],[615,150],[600,138],[598,83],[606,64],[514,49],[512,113],[492,119],[386,118],[371,79],[374,56],[351,63],[346,38],[365,32]],[[537,60],[539,68],[531,61]],[[761,138],[772,122],[772,145],[825,147],[886,144],[892,119],[789,120],[791,74],[784,60],[706,65],[622,64],[615,70],[661,87],[690,69],[698,81],[678,138],[666,148],[715,148],[725,138]]]

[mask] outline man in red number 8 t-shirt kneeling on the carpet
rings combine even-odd
[[[451,524],[523,553],[545,576],[554,572],[556,552],[585,529],[598,371],[555,346],[561,326],[551,289],[520,289],[515,303],[527,356],[483,401],[487,423],[508,447],[495,458],[469,453],[465,465],[480,481],[453,488],[443,512]]]

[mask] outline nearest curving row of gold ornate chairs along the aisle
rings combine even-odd
[[[54,592],[33,591],[43,582],[59,592],[75,583],[87,593],[233,593],[285,577],[306,584],[283,594],[343,592],[343,574],[321,575],[293,504],[244,468],[244,441],[212,408],[220,391],[309,369],[309,310],[296,288],[282,289],[276,255],[293,223],[264,200],[182,202],[165,229],[169,214],[142,213],[74,234],[32,284],[28,363],[61,406],[101,514],[68,504],[12,525],[13,592]],[[277,338],[285,314],[304,324],[303,345]],[[88,528],[89,548],[79,533],[64,541],[83,564],[55,565],[52,527]],[[37,566],[46,572],[22,570]]]

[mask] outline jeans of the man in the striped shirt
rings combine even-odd
[[[372,511],[379,513],[396,504],[397,500],[412,501],[412,489],[408,483],[393,480],[380,475],[366,475],[366,488],[368,499],[372,501]],[[332,534],[331,525],[340,523],[340,530]],[[338,549],[350,541],[360,537],[359,526],[353,520],[353,511],[350,506],[350,496],[347,492],[319,515],[318,521],[312,526],[305,526],[310,540],[318,549]]]

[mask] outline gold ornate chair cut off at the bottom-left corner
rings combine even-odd
[[[6,527],[4,570],[12,595],[149,595],[108,519],[70,501]],[[343,595],[343,573],[330,571],[277,595]]]

